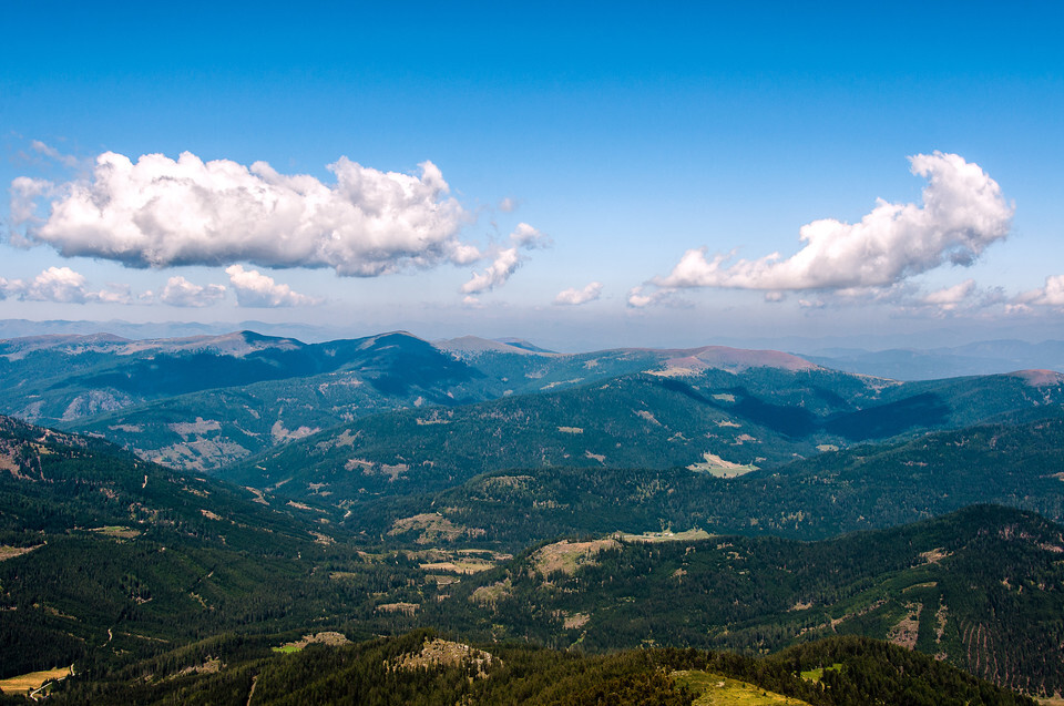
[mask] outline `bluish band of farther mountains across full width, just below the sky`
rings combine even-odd
[[[649,449],[655,468],[765,468],[820,447],[1060,403],[1064,385],[1054,376],[902,383],[776,350],[559,354],[471,336],[430,344],[407,331],[319,344],[247,330],[144,340],[57,335],[0,341],[0,413],[200,470],[330,429],[364,434],[360,454],[330,463],[430,463],[454,478],[507,464],[638,464]],[[418,411],[430,407],[451,411]],[[623,413],[612,421],[608,410]],[[389,413],[397,416],[359,427]],[[388,424],[413,426],[400,439]],[[460,437],[495,433],[502,443],[458,451]],[[533,452],[538,443],[542,452]],[[316,453],[304,461],[318,462]]]

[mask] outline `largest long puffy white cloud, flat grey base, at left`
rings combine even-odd
[[[332,184],[279,174],[265,162],[204,162],[188,152],[133,162],[105,152],[84,181],[14,180],[14,235],[66,257],[132,267],[246,262],[372,277],[477,259],[479,252],[458,238],[470,217],[431,162],[420,175],[347,157],[328,168]],[[39,214],[43,203],[47,215]]]

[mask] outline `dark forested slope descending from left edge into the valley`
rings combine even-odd
[[[352,566],[323,518],[0,418],[0,678],[301,628],[357,603],[347,593],[364,581],[406,581]],[[317,572],[330,561],[351,572],[347,586]]]

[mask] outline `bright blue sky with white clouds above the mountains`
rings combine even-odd
[[[1064,335],[1058,3],[690,4],[8,3],[0,318],[559,348]],[[108,153],[134,176],[103,184]],[[149,188],[165,208],[84,211]],[[233,188],[305,217],[264,224]],[[842,225],[802,252],[820,219]]]

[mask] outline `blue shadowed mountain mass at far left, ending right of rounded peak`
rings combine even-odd
[[[250,331],[146,342],[55,338],[0,341],[12,357],[0,358],[0,382],[8,382],[0,411],[96,433],[186,469],[214,469],[305,434],[300,428],[417,400],[494,396],[482,374],[402,332],[316,345]]]

